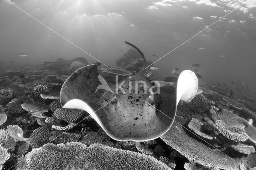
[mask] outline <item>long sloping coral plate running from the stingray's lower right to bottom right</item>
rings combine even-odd
[[[166,144],[170,145],[186,158],[194,160],[203,166],[225,170],[239,169],[240,160],[238,158],[230,158],[219,150],[211,149],[202,142],[198,142],[188,136],[191,132],[182,128],[187,121],[179,117],[175,119],[178,123],[174,122],[172,127],[160,137]]]

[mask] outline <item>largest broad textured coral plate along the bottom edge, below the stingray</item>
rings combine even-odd
[[[26,154],[17,170],[27,169],[125,169],[125,170],[171,170],[152,156],[105,146],[80,142],[45,144]]]

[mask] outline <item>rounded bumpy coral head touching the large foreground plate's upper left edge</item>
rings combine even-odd
[[[39,148],[49,142],[51,135],[50,128],[48,127],[40,127],[34,130],[30,135],[32,148]]]

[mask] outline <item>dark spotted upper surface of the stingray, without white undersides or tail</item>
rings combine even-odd
[[[96,111],[116,96],[112,102],[95,113],[102,122],[102,128],[110,137],[121,141],[144,141],[164,134],[171,127],[176,114],[176,92],[173,87],[169,89],[170,91],[161,87],[162,93],[155,94],[152,102],[149,99],[149,89],[152,84],[143,75],[132,75],[123,81],[122,89],[125,93],[118,89],[115,95],[100,89],[94,94],[97,86],[100,85],[97,67],[96,65],[82,67],[62,86],[61,104],[63,106],[71,99],[80,99]],[[145,82],[146,87],[144,88],[144,84],[139,81]],[[115,92],[115,87],[116,85],[110,88]]]

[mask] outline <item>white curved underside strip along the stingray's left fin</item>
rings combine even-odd
[[[79,99],[72,99],[72,100],[68,101],[62,107],[68,108],[68,109],[82,109],[82,110],[86,111],[100,125],[100,127],[102,127],[104,129],[104,127],[102,126],[101,121],[98,119],[98,116],[96,115],[94,109],[92,109],[92,107],[90,107],[90,105],[88,105],[86,102],[79,100]]]

